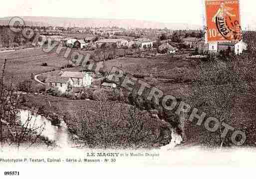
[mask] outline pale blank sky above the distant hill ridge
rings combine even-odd
[[[4,0],[0,16],[96,17],[203,24],[204,0]],[[241,1],[243,28],[256,27],[255,0]]]

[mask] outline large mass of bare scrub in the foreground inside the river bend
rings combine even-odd
[[[168,124],[151,118],[149,113],[123,104],[98,102],[96,105],[97,115],[86,110],[80,111],[79,116],[69,111],[64,114],[64,121],[86,140],[82,141],[86,147],[155,148],[170,142]]]

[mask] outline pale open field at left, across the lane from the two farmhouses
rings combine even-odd
[[[30,79],[31,73],[35,75],[52,71],[67,63],[67,60],[62,56],[57,56],[55,53],[45,53],[40,49],[23,49],[0,53],[1,66],[3,66],[5,58],[7,59],[5,77],[7,79],[13,77],[14,84]],[[42,63],[47,63],[47,66],[42,66]]]

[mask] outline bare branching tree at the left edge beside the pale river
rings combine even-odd
[[[21,144],[31,147],[41,140],[41,134],[44,130],[44,124],[36,125],[36,110],[31,109],[31,114],[27,119],[20,119],[18,104],[20,102],[19,94],[10,82],[4,83],[4,70],[6,68],[6,59],[4,60],[2,76],[0,80],[0,144],[1,149],[7,144],[16,146],[19,149]],[[44,138],[46,141],[47,139]]]

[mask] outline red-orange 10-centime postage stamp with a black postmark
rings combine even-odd
[[[207,42],[240,41],[239,0],[205,0]]]

